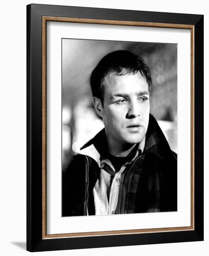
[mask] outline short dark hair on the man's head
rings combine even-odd
[[[90,86],[93,97],[99,98],[103,104],[104,79],[107,74],[136,74],[138,71],[146,79],[150,91],[152,85],[150,70],[146,62],[139,55],[125,50],[119,50],[105,55],[91,73]]]

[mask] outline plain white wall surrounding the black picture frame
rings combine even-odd
[[[209,8],[207,1],[33,0],[33,3],[144,11],[198,13],[205,17],[205,131],[209,130]],[[26,4],[3,1],[0,22],[0,254],[24,256],[26,248]],[[186,96],[186,95],[185,95]],[[206,118],[207,117],[207,118]],[[205,133],[205,149],[209,143]],[[208,149],[205,181],[209,180]],[[207,185],[207,184],[206,184]],[[209,249],[209,186],[205,186],[205,241],[38,253],[38,255],[207,255]]]

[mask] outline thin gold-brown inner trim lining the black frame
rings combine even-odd
[[[73,22],[73,23],[89,23],[103,25],[121,25],[121,26],[137,26],[137,27],[164,27],[190,29],[191,34],[191,223],[189,227],[170,227],[157,229],[130,229],[130,230],[114,230],[114,231],[97,231],[97,232],[80,232],[68,234],[50,234],[46,232],[46,23],[47,21],[57,22]],[[156,232],[186,231],[194,230],[194,26],[184,24],[169,23],[152,23],[139,21],[124,20],[98,20],[98,19],[82,19],[82,18],[65,18],[65,17],[42,17],[42,239],[61,238],[61,237],[79,237],[79,236],[107,236],[107,235],[124,235],[124,234],[142,234]]]

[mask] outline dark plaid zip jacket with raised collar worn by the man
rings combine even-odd
[[[105,141],[102,130],[84,145],[86,154],[76,155],[63,171],[62,216],[95,215],[93,189]],[[88,154],[89,148],[95,149],[94,159]],[[177,155],[152,115],[144,151],[127,168],[124,181],[125,200],[121,200],[121,187],[116,214],[177,211]]]

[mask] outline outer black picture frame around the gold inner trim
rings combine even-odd
[[[193,31],[194,220],[193,230],[139,234],[53,237],[44,230],[43,17],[153,23],[153,27],[190,27]],[[63,20],[64,21],[64,20]],[[44,21],[47,22],[47,19]],[[94,21],[93,21],[94,22]],[[95,21],[96,23],[96,21]],[[156,25],[157,24],[157,25]],[[130,25],[131,26],[131,25]],[[46,251],[203,241],[203,15],[158,13],[31,4],[27,6],[27,250]]]

